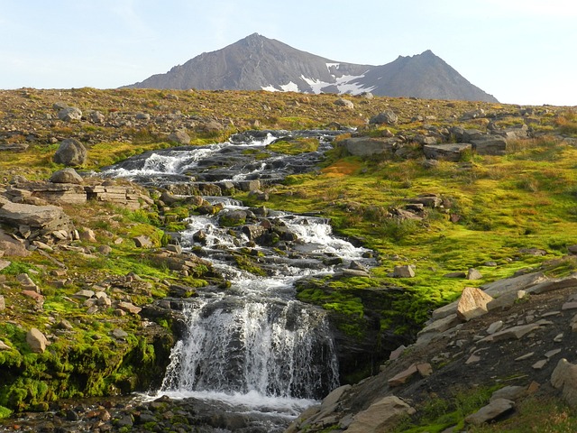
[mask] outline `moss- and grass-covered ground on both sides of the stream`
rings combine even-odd
[[[62,168],[52,162],[58,146],[53,143],[55,139],[81,138],[87,143],[88,161],[79,169],[96,171],[133,154],[174,144],[159,134],[153,124],[134,128],[84,121],[67,124],[55,120],[47,124],[38,120],[45,119],[52,111],[51,105],[59,101],[82,110],[99,110],[105,116],[179,112],[198,119],[215,118],[226,125],[216,133],[189,129],[193,144],[222,141],[229,134],[256,124],[261,129],[302,129],[323,128],[337,122],[373,136],[392,133],[410,139],[426,133],[428,126],[458,125],[485,130],[490,119],[498,119],[497,127],[527,124],[541,134],[538,139],[512,143],[511,152],[504,156],[468,155],[467,161],[441,162],[433,169],[425,169],[418,158],[362,160],[336,149],[319,172],[291,177],[275,187],[276,193],[270,193],[267,207],[330,217],[340,235],[355,239],[378,254],[380,264],[371,270],[371,278],[327,279],[299,289],[301,299],[341,315],[342,330],[351,335],[363,332],[368,307],[380,314],[382,333],[393,331],[410,338],[431,309],[455,299],[465,285],[481,285],[543,263],[550,263],[545,269],[554,276],[575,269],[575,263],[561,258],[568,245],[577,244],[574,162],[577,149],[558,137],[558,134],[577,136],[577,115],[572,109],[535,107],[529,110],[531,114],[521,116],[517,106],[501,104],[349,97],[355,104],[354,110],[350,110],[335,106],[333,95],[240,91],[21,89],[2,91],[1,96],[0,118],[22,130],[22,134],[12,134],[4,142],[25,143],[32,133],[36,137],[28,150],[0,155],[4,183],[15,175],[30,180],[48,179],[54,170]],[[372,115],[386,108],[399,115],[399,124],[388,127],[367,124]],[[479,108],[485,110],[486,117],[458,120],[463,113]],[[416,116],[426,121],[415,120]],[[315,143],[280,144],[277,150],[287,153],[315,149]],[[255,158],[265,152],[255,154]],[[428,210],[422,221],[388,217],[389,207],[401,206],[406,198],[422,193],[441,196],[444,207]],[[247,203],[253,199],[247,194],[239,194],[239,198]],[[50,253],[49,259],[35,252],[25,258],[10,258],[12,265],[0,272],[5,278],[6,299],[19,302],[17,309],[9,308],[2,313],[2,339],[14,349],[0,353],[3,372],[9,372],[2,376],[0,416],[8,413],[2,406],[40,410],[46,402],[64,396],[124,392],[135,386],[134,380],[140,373],[138,364],[142,368],[153,364],[152,358],[161,347],[152,351],[150,341],[136,332],[136,318],[117,318],[112,311],[88,317],[85,309],[68,300],[77,290],[110,276],[134,272],[150,283],[150,289],[132,293],[131,297],[135,303],[146,303],[166,296],[167,286],[160,281],[191,287],[206,284],[204,270],[182,277],[152,260],[150,252],[133,246],[130,238],[134,235],[149,235],[157,246],[166,241],[155,209],[130,212],[88,203],[66,210],[78,226],[95,230],[98,243],[109,244],[113,251],[106,257],[96,252],[96,245],[78,243],[76,246],[87,248],[87,253],[56,251]],[[174,215],[168,216],[170,224],[178,225],[187,211],[173,209]],[[456,217],[451,218],[452,215]],[[175,227],[178,228],[171,228]],[[124,242],[111,242],[116,238]],[[522,253],[524,248],[543,249],[546,254]],[[252,263],[244,256],[239,256],[239,260],[252,269]],[[489,262],[496,265],[489,266]],[[70,281],[63,286],[52,284],[58,280],[53,273],[61,271],[58,263],[65,263],[71,274]],[[389,272],[398,264],[415,265],[417,276],[391,278]],[[471,267],[481,271],[482,280],[444,277],[448,272],[463,272]],[[45,294],[40,313],[32,300],[18,294],[14,275],[22,272],[28,272]],[[382,304],[369,305],[368,299],[372,298],[363,298],[369,290],[386,293],[386,297],[380,298],[385,299]],[[27,352],[24,331],[38,327],[50,332],[53,327],[50,318],[67,318],[74,324],[74,331],[59,337],[42,355]],[[128,332],[124,342],[111,338],[113,327]],[[552,416],[553,423],[555,417],[568,417],[567,422],[573,422],[573,414],[566,410],[551,413],[558,414]],[[527,417],[530,418],[530,413]]]

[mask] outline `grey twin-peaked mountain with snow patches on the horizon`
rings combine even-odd
[[[228,89],[498,102],[432,51],[386,65],[325,59],[258,33],[126,88]]]

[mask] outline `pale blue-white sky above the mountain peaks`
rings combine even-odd
[[[368,65],[431,50],[502,103],[577,106],[575,0],[0,0],[0,88],[118,88],[254,32]]]

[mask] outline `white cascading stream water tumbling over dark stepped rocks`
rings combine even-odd
[[[314,166],[322,153],[290,161],[275,154],[256,164],[246,158],[247,149],[263,149],[273,139],[271,134],[261,134],[260,140],[249,136],[243,142],[149,152],[111,168],[108,174],[149,184],[166,182],[167,176],[171,181],[182,181],[182,176],[191,180],[206,175],[206,159],[210,159],[220,170],[220,180],[253,179],[257,173],[261,179],[279,179],[304,161]],[[252,213],[230,198],[207,199],[221,203],[222,213]],[[281,243],[281,248],[255,242],[241,229],[219,226],[219,216],[189,218],[188,229],[180,234],[182,246],[188,251],[200,247],[203,257],[231,286],[200,293],[186,307],[188,332],[173,349],[161,393],[225,401],[243,396],[243,407],[250,410],[295,415],[338,385],[325,311],[295,300],[294,283],[336,272],[353,261],[370,264],[370,259],[363,258],[366,250],[332,235],[324,218],[273,211],[266,219],[268,225],[272,221],[290,233],[290,242]],[[257,218],[255,224],[263,223]],[[234,265],[234,253],[246,249],[258,257],[266,276]],[[339,260],[328,260],[335,257]]]

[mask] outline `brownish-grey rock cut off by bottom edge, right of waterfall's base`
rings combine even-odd
[[[382,433],[392,431],[402,419],[416,412],[405,401],[394,395],[383,397],[369,406],[367,410],[357,413],[353,422],[346,429],[347,433]]]

